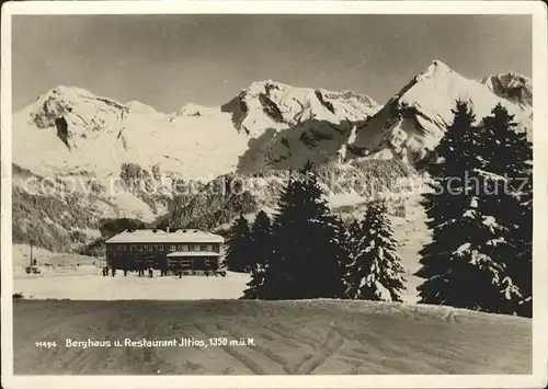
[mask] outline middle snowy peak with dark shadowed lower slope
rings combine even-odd
[[[236,128],[251,137],[239,157],[240,172],[295,169],[307,161],[322,164],[333,160],[353,125],[378,108],[364,94],[297,89],[271,80],[252,83],[222,106]]]

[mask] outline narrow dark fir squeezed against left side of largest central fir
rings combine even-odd
[[[248,272],[251,273],[251,281],[243,291],[244,298],[259,298],[259,289],[264,281],[266,259],[272,253],[272,226],[269,215],[264,210],[259,211],[251,228],[251,255],[248,263]]]

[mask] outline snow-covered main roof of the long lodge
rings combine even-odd
[[[165,232],[163,230],[135,230],[123,231],[111,239],[106,243],[224,243],[225,239],[221,236],[204,232],[201,230],[186,229],[176,230],[174,232]]]

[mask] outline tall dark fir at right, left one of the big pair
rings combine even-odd
[[[442,161],[430,169],[434,191],[424,195],[433,241],[421,251],[420,302],[501,312],[507,288],[504,263],[493,255],[499,229],[481,201],[487,133],[475,126],[466,103],[457,102],[453,113],[436,149]]]

